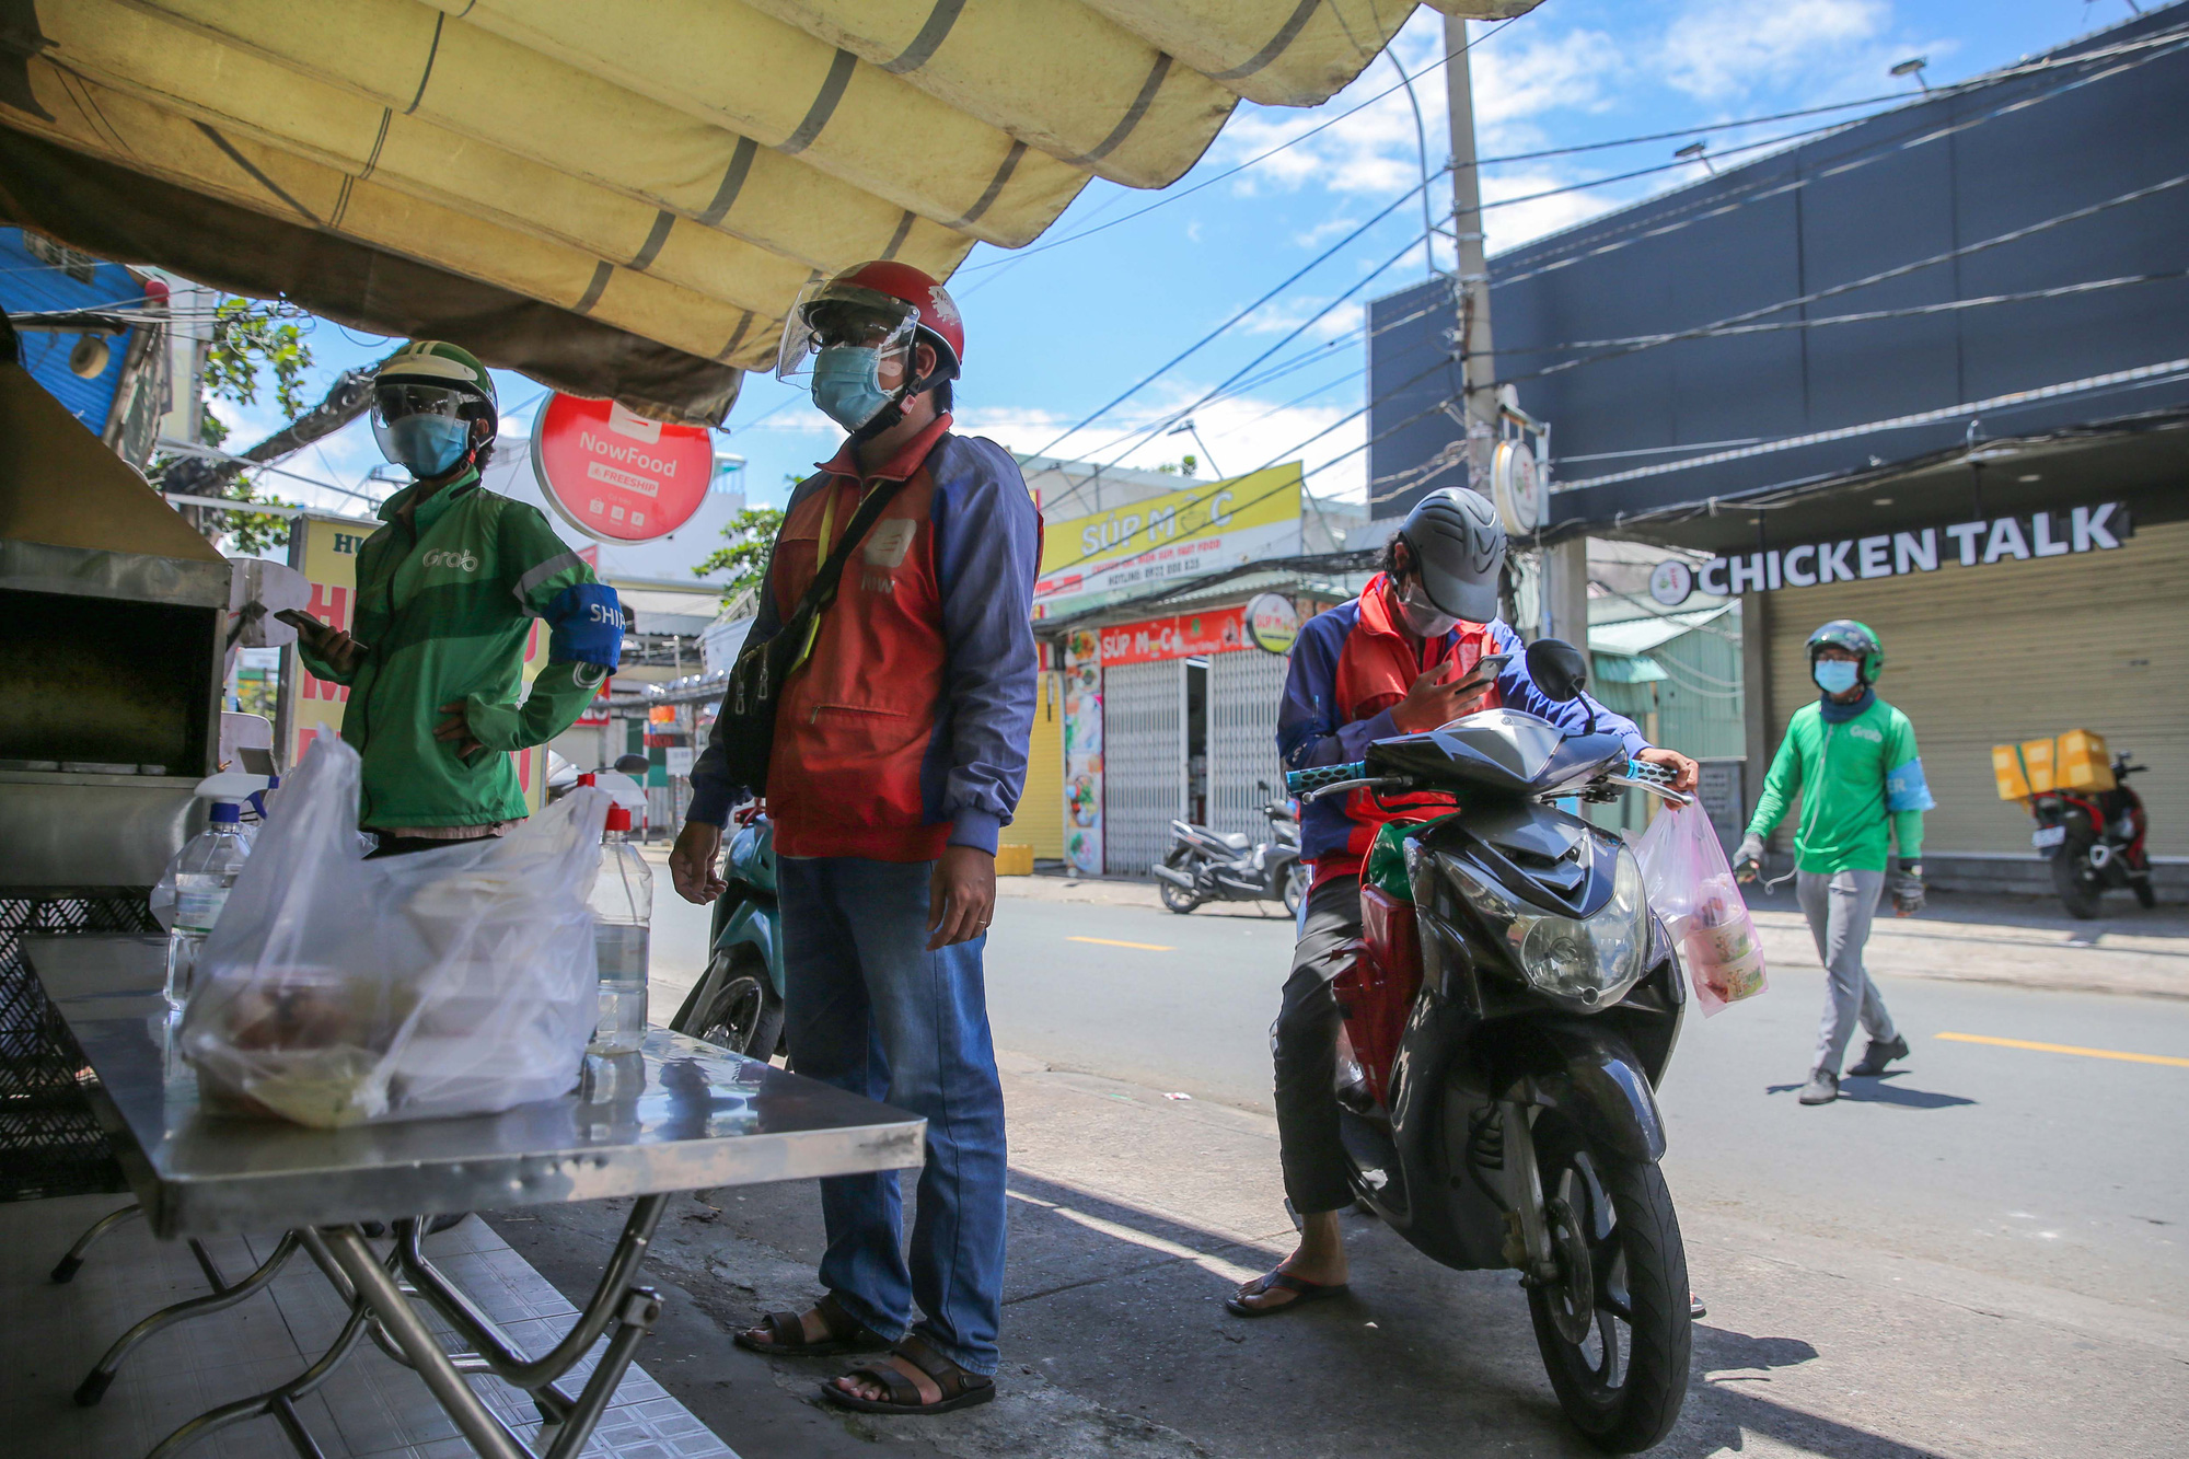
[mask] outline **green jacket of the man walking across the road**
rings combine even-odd
[[[1802,793],[1802,824],[1793,837],[1799,870],[1821,876],[1883,872],[1887,826],[1904,861],[1922,857],[1922,813],[1935,802],[1915,754],[1915,725],[1876,694],[1861,714],[1837,725],[1823,719],[1821,703],[1795,710],[1749,817],[1749,835],[1769,837],[1795,791]]]

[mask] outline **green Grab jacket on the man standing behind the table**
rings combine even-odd
[[[536,506],[482,489],[475,471],[420,502],[412,526],[403,526],[396,513],[416,491],[412,484],[387,497],[379,513],[387,526],[357,550],[350,635],[366,653],[355,670],[335,673],[302,642],[298,653],[311,673],[350,688],[341,738],[363,758],[359,826],[521,819],[525,797],[503,751],[569,730],[611,673],[556,662],[549,648],[519,703],[525,637],[536,618],[567,611],[565,591],[595,583],[593,570]],[[606,596],[613,609],[611,589],[591,594]],[[458,699],[486,747],[468,762],[433,738],[440,705]]]

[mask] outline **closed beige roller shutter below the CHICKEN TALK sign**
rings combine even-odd
[[[1878,692],[1915,723],[1937,800],[1924,854],[2029,857],[2029,813],[1999,800],[1992,745],[2062,730],[2150,765],[2134,782],[2150,850],[2189,854],[2189,524],[2141,528],[2117,552],[1773,594],[1773,749],[1817,694],[1806,640],[1830,618],[1885,637]]]

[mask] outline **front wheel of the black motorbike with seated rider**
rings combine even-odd
[[[1664,1174],[1591,1146],[1554,1113],[1534,1124],[1556,1282],[1528,1288],[1534,1341],[1574,1428],[1611,1455],[1672,1431],[1688,1395],[1688,1253]]]

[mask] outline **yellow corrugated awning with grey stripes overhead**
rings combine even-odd
[[[1160,188],[1239,96],[1320,103],[1412,11],[31,0],[0,33],[0,219],[720,418],[814,274],[948,276],[1088,177]]]

